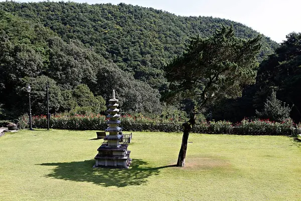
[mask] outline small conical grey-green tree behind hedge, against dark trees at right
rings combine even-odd
[[[258,118],[270,119],[271,121],[281,122],[289,118],[291,109],[289,106],[282,106],[282,101],[276,98],[276,92],[272,91],[271,95],[266,99],[262,112],[256,111]]]

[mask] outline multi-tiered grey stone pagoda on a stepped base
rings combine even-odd
[[[94,167],[128,168],[130,165],[128,144],[119,144],[123,135],[121,128],[118,127],[121,121],[118,120],[120,115],[117,114],[119,112],[117,102],[118,99],[116,99],[115,90],[113,90],[111,99],[109,99],[109,110],[107,110],[108,128],[105,130],[105,132],[109,132],[109,135],[104,138],[107,143],[102,143],[97,149],[98,154],[94,157],[96,160]]]

